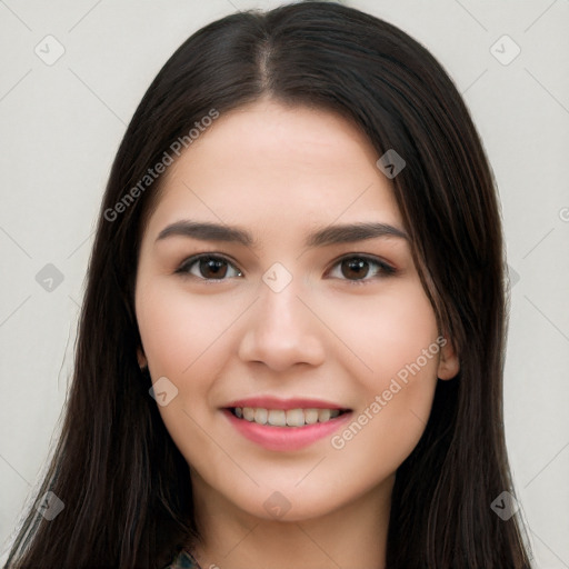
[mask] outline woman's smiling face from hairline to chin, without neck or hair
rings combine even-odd
[[[378,158],[340,117],[262,100],[167,171],[139,359],[198,496],[287,520],[389,497],[458,371]]]

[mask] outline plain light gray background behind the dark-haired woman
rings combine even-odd
[[[33,499],[64,401],[96,216],[126,123],[191,32],[278,3],[0,0],[4,548]],[[482,136],[515,271],[506,431],[517,497],[536,567],[569,568],[569,0],[345,3],[429,48]],[[66,50],[51,66],[34,52],[57,53],[48,34]],[[521,49],[509,64],[495,57],[515,53],[509,40],[491,50],[503,34]],[[63,274],[52,291],[36,280],[47,263]]]

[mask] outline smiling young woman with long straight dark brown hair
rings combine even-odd
[[[326,2],[199,30],[116,157],[8,566],[529,568],[503,264],[480,140],[419,43]]]

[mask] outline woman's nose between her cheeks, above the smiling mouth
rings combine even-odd
[[[299,292],[296,279],[279,292],[260,284],[260,298],[243,322],[239,345],[242,361],[262,362],[274,371],[325,361],[326,327]]]

